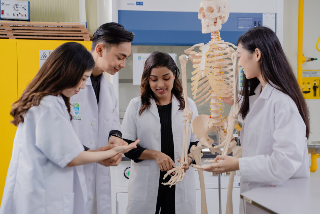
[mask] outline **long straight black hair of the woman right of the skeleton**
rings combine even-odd
[[[238,45],[242,45],[250,53],[253,53],[256,48],[260,50],[260,69],[264,81],[272,82],[280,91],[292,98],[306,124],[308,138],[310,132],[308,106],[276,34],[267,27],[255,27],[238,39]],[[241,90],[244,100],[239,112],[243,119],[249,111],[249,96],[254,94],[259,83],[257,78],[247,79],[244,75]]]

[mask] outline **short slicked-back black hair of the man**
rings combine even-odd
[[[91,51],[99,42],[103,42],[107,46],[118,45],[124,42],[132,42],[134,33],[124,29],[121,24],[109,22],[101,25],[94,31],[92,36]]]

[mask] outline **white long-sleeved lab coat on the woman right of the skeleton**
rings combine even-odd
[[[250,110],[240,134],[240,193],[309,177],[306,125],[293,100],[271,84],[261,91],[260,83],[249,97]]]

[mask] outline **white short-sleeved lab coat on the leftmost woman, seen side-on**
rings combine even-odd
[[[13,141],[1,214],[72,214],[74,167],[84,150],[62,97],[29,108]]]

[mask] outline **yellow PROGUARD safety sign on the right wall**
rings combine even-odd
[[[320,70],[302,71],[302,94],[305,99],[320,99]]]

